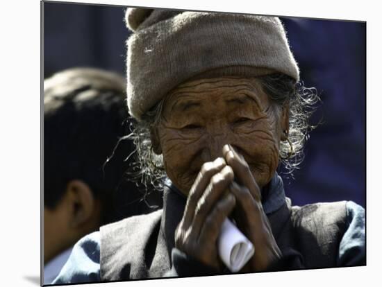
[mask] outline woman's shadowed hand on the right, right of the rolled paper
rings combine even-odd
[[[229,191],[235,195],[237,207],[234,219],[239,229],[255,246],[255,254],[242,272],[255,272],[267,269],[269,265],[281,258],[269,220],[261,204],[261,192],[244,157],[231,146],[223,148],[224,159],[235,174],[235,182],[229,186]]]

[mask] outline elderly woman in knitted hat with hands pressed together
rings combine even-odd
[[[276,173],[301,160],[318,99],[280,20],[134,8],[126,22],[140,172],[163,180],[164,207],[85,236],[55,283],[230,273],[226,218],[255,250],[239,272],[365,264],[363,208],[292,206]]]

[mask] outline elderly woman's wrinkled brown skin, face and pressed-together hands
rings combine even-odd
[[[242,272],[266,270],[280,258],[260,191],[279,163],[288,114],[288,105],[277,111],[256,78],[194,80],[167,96],[152,141],[167,176],[188,195],[175,234],[179,250],[222,270],[216,241],[231,215],[256,250]]]

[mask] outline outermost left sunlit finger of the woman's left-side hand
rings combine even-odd
[[[188,193],[187,203],[185,205],[185,211],[183,214],[182,225],[185,228],[190,227],[194,218],[194,211],[197,207],[197,202],[201,195],[206,190],[206,187],[210,183],[211,177],[226,166],[226,162],[222,157],[218,157],[213,162],[206,162],[201,166],[201,170],[195,180],[190,193]]]

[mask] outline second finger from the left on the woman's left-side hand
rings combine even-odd
[[[225,166],[222,171],[213,175],[210,184],[197,204],[195,209],[194,221],[192,227],[196,234],[199,234],[208,214],[217,204],[219,198],[222,198],[224,192],[228,191],[228,186],[233,182],[233,171],[231,166]]]

